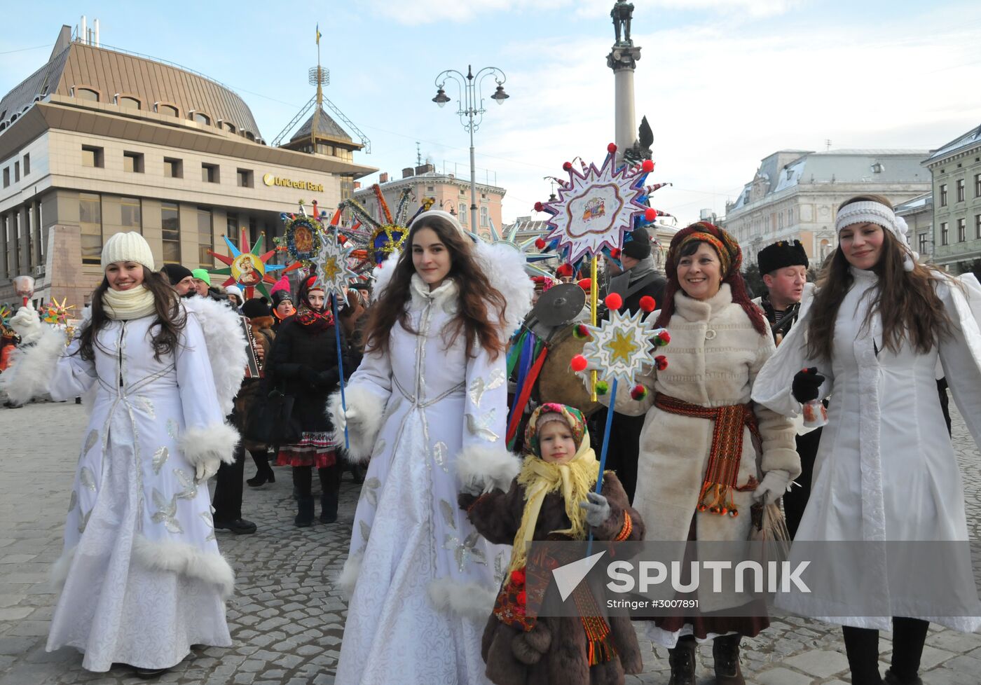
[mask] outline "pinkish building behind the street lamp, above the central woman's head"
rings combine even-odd
[[[395,211],[395,204],[401,197],[402,190],[409,188],[412,190],[410,202],[412,211],[410,216],[415,214],[419,203],[423,198],[432,197],[436,199],[434,209],[441,209],[454,215],[464,228],[477,233],[478,235],[490,239],[491,226],[499,233],[501,228],[500,203],[504,199],[504,188],[486,183],[477,184],[477,226],[471,226],[470,220],[470,180],[467,178],[457,178],[452,173],[437,173],[436,168],[431,164],[424,164],[418,167],[406,167],[402,170],[402,177],[390,180],[387,173],[382,173],[379,177],[379,185],[388,209],[392,213]],[[360,187],[354,191],[354,199],[368,210],[372,216],[381,219],[381,210],[375,191],[370,187]]]

